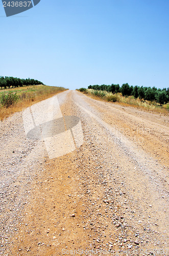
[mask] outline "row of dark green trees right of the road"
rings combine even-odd
[[[113,94],[120,92],[126,97],[132,95],[134,98],[157,101],[160,105],[169,102],[169,88],[157,89],[156,87],[133,87],[129,86],[128,83],[124,83],[122,87],[120,87],[119,84],[111,84],[111,86],[106,86],[106,84],[99,86],[96,84],[94,86],[88,86],[88,89],[106,91]]]

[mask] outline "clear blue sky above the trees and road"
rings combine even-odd
[[[11,17],[0,2],[0,22],[0,75],[169,87],[168,0],[41,0]]]

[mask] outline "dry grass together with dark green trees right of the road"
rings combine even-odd
[[[133,87],[124,83],[122,87],[119,84],[111,84],[111,86],[105,84],[99,86],[97,84],[88,86],[88,89],[80,88],[79,91],[92,98],[132,105],[165,114],[168,114],[169,111],[169,88]]]

